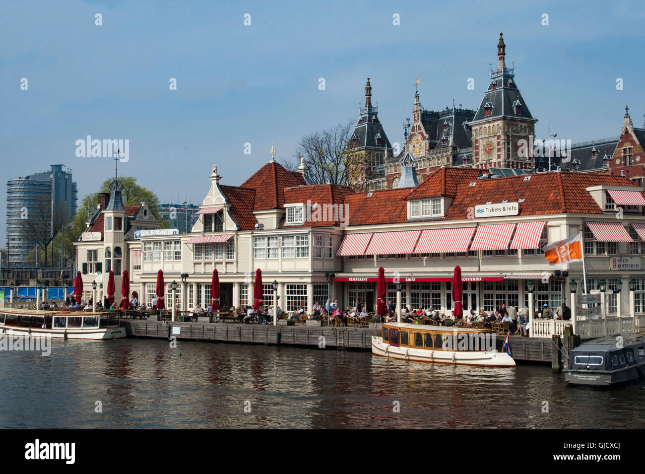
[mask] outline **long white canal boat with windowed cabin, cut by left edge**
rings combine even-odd
[[[109,326],[107,316],[108,313],[0,308],[0,334],[95,340],[125,337],[125,328]]]

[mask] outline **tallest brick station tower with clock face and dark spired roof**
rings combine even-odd
[[[535,135],[537,119],[524,103],[515,83],[515,68],[506,67],[506,44],[499,34],[497,69],[490,72],[490,84],[469,123],[475,168],[533,168],[533,150],[528,150]]]

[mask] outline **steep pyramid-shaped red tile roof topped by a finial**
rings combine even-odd
[[[279,163],[271,162],[253,173],[242,183],[242,188],[255,190],[255,210],[282,209],[284,188],[307,184],[301,173],[288,171]]]

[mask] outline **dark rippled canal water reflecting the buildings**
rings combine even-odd
[[[641,428],[644,386],[335,348],[52,340],[48,357],[0,351],[0,428]]]

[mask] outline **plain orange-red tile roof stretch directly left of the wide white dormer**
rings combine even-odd
[[[345,204],[350,216],[348,225],[405,222],[408,218],[408,203],[405,198],[412,190],[413,188],[401,188],[346,195]]]

